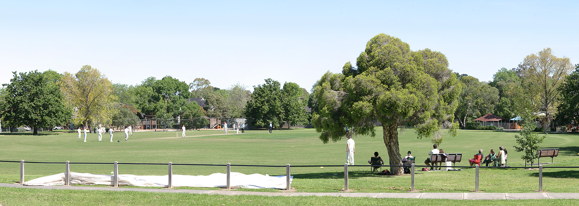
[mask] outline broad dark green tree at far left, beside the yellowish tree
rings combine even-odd
[[[34,128],[62,125],[71,118],[72,111],[64,104],[58,84],[61,75],[52,70],[46,72],[14,73],[6,86],[0,116],[12,126],[22,124]]]

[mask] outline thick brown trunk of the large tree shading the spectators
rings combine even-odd
[[[400,149],[398,148],[398,125],[396,123],[382,124],[384,134],[384,145],[388,150],[390,165],[402,165]],[[390,174],[401,175],[404,173],[402,167],[390,167]]]

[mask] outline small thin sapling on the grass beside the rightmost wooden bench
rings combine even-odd
[[[543,139],[547,137],[539,137],[537,133],[533,133],[533,130],[537,127],[535,123],[535,117],[532,112],[526,111],[521,115],[521,120],[523,122],[521,132],[519,135],[515,135],[515,141],[519,146],[513,146],[516,152],[524,152],[525,154],[521,156],[521,159],[525,160],[525,167],[527,162],[533,165],[534,159],[537,159],[536,152],[541,149],[539,144],[543,143]]]

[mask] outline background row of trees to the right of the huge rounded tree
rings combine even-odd
[[[575,103],[573,94],[579,89],[574,86],[573,75],[568,76],[573,68],[569,58],[558,58],[547,48],[530,54],[516,68],[499,69],[492,82],[457,74],[463,90],[455,120],[464,128],[467,122],[486,113],[511,119],[524,111],[540,111],[545,112],[545,130],[553,116],[558,124],[569,124],[572,118],[568,114],[573,113],[569,109],[573,110]]]

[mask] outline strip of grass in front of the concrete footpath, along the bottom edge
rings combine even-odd
[[[18,205],[577,205],[579,200],[428,200],[368,197],[267,197],[0,187],[0,204]]]

